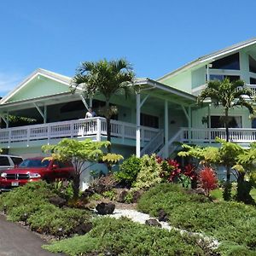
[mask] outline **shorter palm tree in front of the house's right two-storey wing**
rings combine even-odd
[[[226,141],[230,140],[229,132],[229,112],[231,108],[241,107],[247,108],[253,113],[253,92],[249,88],[244,87],[242,80],[230,82],[226,78],[224,81],[209,81],[207,87],[198,96],[197,102],[202,103],[206,98],[211,98],[215,107],[222,106],[224,108],[224,127],[226,133]]]

